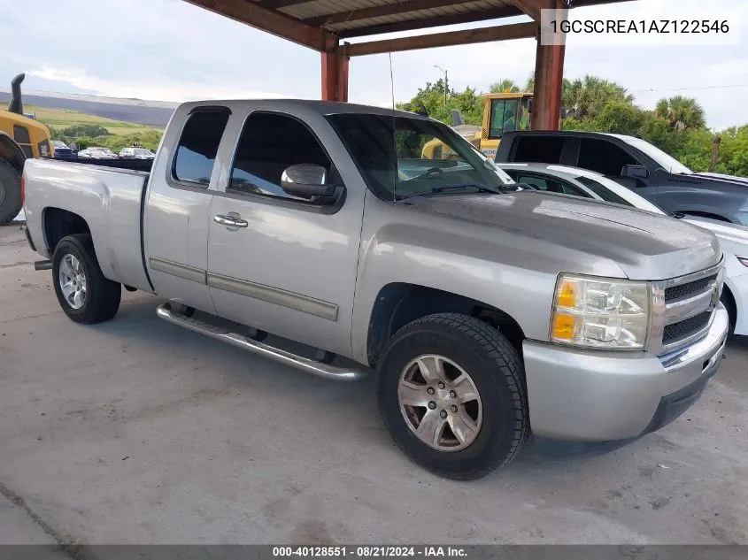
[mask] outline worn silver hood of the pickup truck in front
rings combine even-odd
[[[586,272],[584,262],[605,258],[629,279],[666,280],[716,265],[722,255],[712,233],[682,220],[574,196],[526,190],[423,196],[408,203],[487,226],[495,235],[506,231],[572,249],[580,257],[568,263],[568,272]]]

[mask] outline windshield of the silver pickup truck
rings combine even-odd
[[[385,200],[474,186],[505,188],[514,185],[509,175],[450,127],[431,120],[389,115],[343,113],[328,115],[345,147],[374,194]],[[450,150],[429,150],[440,143]]]

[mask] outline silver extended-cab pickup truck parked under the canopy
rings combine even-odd
[[[435,139],[451,159],[421,157]],[[183,104],[150,173],[34,159],[23,180],[36,267],[73,321],[139,289],[166,299],[159,318],[306,372],[375,371],[394,441],[452,479],[530,433],[658,429],[698,400],[728,332],[713,234],[523,189],[407,112]]]

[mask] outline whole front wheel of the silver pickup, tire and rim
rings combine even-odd
[[[401,328],[382,352],[377,393],[397,446],[448,479],[482,478],[528,439],[521,358],[477,318],[439,313]]]

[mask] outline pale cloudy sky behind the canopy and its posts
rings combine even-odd
[[[650,109],[665,96],[695,97],[707,124],[748,123],[748,0],[638,0],[572,11],[581,19],[727,19],[727,36],[567,37],[564,75],[620,83]],[[183,0],[0,0],[0,81],[27,73],[24,88],[159,101],[227,97],[320,98],[320,54]],[[500,23],[527,20],[505,19]],[[439,29],[485,27],[497,22]],[[403,34],[400,34],[403,35]],[[399,35],[384,35],[384,38]],[[366,38],[372,40],[372,38]],[[666,44],[680,41],[681,44]],[[351,40],[351,42],[354,42]],[[729,42],[730,44],[725,44]],[[9,48],[7,45],[12,45]],[[487,91],[505,78],[523,84],[536,41],[521,39],[351,59],[349,101],[407,101],[449,73],[451,86]]]

